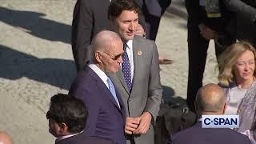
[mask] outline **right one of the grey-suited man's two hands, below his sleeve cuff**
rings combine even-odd
[[[134,130],[133,134],[146,134],[147,130],[150,129],[150,122],[152,116],[149,112],[144,112],[140,117],[138,128]]]

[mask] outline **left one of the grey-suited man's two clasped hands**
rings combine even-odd
[[[133,131],[136,130],[139,124],[139,118],[126,118],[126,126],[125,126],[125,132],[126,134],[133,134]]]

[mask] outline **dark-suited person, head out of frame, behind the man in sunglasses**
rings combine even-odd
[[[78,0],[74,6],[72,22],[72,50],[77,71],[90,60],[90,45],[95,34],[111,30],[107,19],[110,0]]]

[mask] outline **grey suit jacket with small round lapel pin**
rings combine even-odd
[[[152,114],[150,130],[146,134],[135,135],[137,144],[154,144],[154,121],[162,100],[158,50],[154,41],[134,36],[134,78],[131,91],[128,90],[122,70],[112,75],[114,85],[122,96],[129,117],[138,117],[143,112]],[[130,143],[127,141],[127,143]]]

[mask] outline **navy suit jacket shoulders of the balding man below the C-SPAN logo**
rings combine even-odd
[[[231,129],[202,128],[201,122],[194,126],[174,134],[172,142],[168,144],[250,144],[246,135],[240,134]]]

